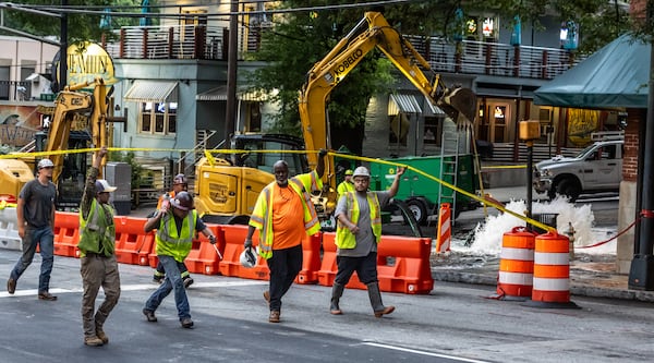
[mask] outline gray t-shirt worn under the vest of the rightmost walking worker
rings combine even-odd
[[[390,195],[388,192],[371,192],[377,194],[377,198],[379,199],[379,208],[384,208],[388,201],[390,201]],[[375,243],[375,235],[373,234],[373,227],[371,221],[371,208],[367,202],[366,193],[358,193],[354,192],[354,197],[359,203],[359,221],[356,226],[359,226],[359,232],[355,235],[356,238],[356,246],[354,249],[341,250],[338,249],[336,254],[338,256],[348,256],[348,257],[363,257],[367,256],[371,252],[377,251],[377,243]],[[346,195],[341,195],[338,199],[338,204],[336,206],[336,211],[334,216],[338,218],[339,215],[344,214],[348,215],[348,198]]]

